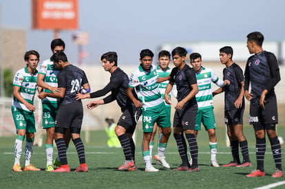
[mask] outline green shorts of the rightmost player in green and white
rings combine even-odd
[[[196,115],[195,130],[201,130],[201,122],[204,125],[206,131],[209,129],[215,129],[215,115],[213,108],[199,109]]]

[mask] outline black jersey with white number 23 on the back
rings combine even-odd
[[[65,66],[59,72],[57,80],[58,87],[65,88],[65,96],[61,99],[62,105],[78,102],[76,93],[88,82],[85,72],[74,65]]]

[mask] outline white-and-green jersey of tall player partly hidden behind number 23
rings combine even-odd
[[[57,87],[57,78],[56,76],[59,75],[59,69],[56,69],[54,66],[54,63],[49,60],[44,60],[43,63],[41,63],[39,74],[45,75],[45,79],[43,80],[47,85],[50,85],[52,87]],[[51,93],[48,89],[43,89],[46,93]],[[43,99],[44,102],[51,102],[56,103],[59,102],[59,98],[52,98],[52,97],[46,97]]]

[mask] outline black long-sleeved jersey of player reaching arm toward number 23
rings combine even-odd
[[[114,100],[117,100],[121,111],[125,111],[127,107],[134,107],[134,103],[127,97],[127,87],[129,85],[129,77],[125,72],[117,67],[116,70],[111,74],[110,82],[101,90],[90,93],[90,98],[98,98],[105,96],[105,94],[111,91],[112,93],[104,98],[104,103],[107,104]],[[133,91],[136,97],[135,91]]]

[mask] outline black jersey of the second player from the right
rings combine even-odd
[[[235,100],[240,96],[241,82],[244,81],[244,75],[242,69],[236,63],[224,68],[223,70],[224,80],[229,80],[230,85],[224,86],[224,110],[236,109]],[[244,98],[242,98],[242,107],[244,109]]]

